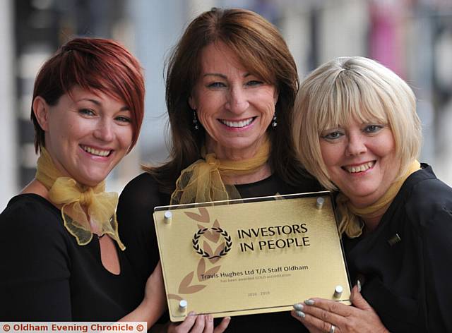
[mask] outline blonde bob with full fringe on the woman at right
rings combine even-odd
[[[396,73],[361,56],[344,56],[316,68],[300,85],[294,110],[297,156],[307,171],[329,190],[320,150],[321,133],[350,121],[384,123],[393,134],[400,158],[399,178],[417,159],[422,141],[416,99]]]

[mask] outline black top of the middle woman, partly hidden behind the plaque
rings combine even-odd
[[[306,178],[300,187],[284,183],[273,175],[256,183],[237,185],[242,198],[291,194],[321,190],[313,178]],[[169,205],[169,195],[158,191],[157,183],[150,174],[141,174],[124,188],[119,197],[118,218],[127,219],[119,230],[121,240],[128,246],[127,255],[141,278],[141,286],[160,260],[155,236],[154,207]],[[167,316],[161,321],[167,320]],[[290,313],[266,313],[232,317],[227,332],[304,332],[304,327]]]

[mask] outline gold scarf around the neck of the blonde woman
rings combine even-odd
[[[391,202],[396,198],[398,191],[408,176],[420,169],[420,163],[418,161],[413,161],[408,166],[408,171],[400,178],[397,178],[379,200],[376,200],[376,202],[367,207],[356,207],[355,205],[352,205],[350,199],[343,193],[339,193],[336,197],[336,204],[340,213],[340,234],[342,235],[345,232],[350,238],[359,237],[362,234],[362,228],[364,227],[360,218],[372,219],[384,214],[389,205],[391,205]]]

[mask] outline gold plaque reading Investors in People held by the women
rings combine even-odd
[[[329,192],[156,207],[154,222],[173,322],[350,304]]]

